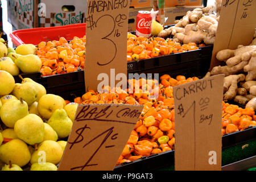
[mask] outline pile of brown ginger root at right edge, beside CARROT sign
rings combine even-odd
[[[205,77],[225,74],[224,101],[233,100],[245,107],[256,110],[256,39],[249,46],[224,49],[216,58],[226,65],[213,67]]]

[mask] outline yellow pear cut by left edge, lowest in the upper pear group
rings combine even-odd
[[[11,60],[10,57],[1,57],[0,65],[1,70],[7,71],[13,76],[19,75],[19,68],[13,63],[13,60]]]

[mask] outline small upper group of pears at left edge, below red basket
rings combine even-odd
[[[35,55],[36,47],[33,44],[22,44],[14,49],[7,47],[3,41],[0,39],[0,70],[13,76],[40,71],[42,61]]]

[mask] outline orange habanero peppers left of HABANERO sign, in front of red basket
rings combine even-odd
[[[50,76],[84,69],[85,40],[85,36],[74,37],[68,42],[61,37],[58,41],[40,42],[36,55],[42,61],[41,75]]]

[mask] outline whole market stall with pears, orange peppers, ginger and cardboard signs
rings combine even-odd
[[[163,2],[16,19],[13,48],[0,40],[3,171],[255,167],[255,2]]]

